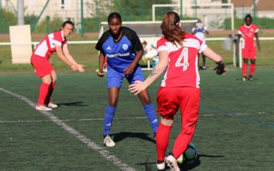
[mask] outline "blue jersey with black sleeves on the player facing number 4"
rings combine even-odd
[[[142,44],[135,31],[127,27],[121,27],[121,31],[119,42],[114,41],[110,30],[105,31],[95,47],[108,58],[108,67],[119,73],[123,73],[123,70],[132,64],[138,51],[142,50]]]

